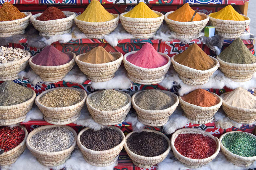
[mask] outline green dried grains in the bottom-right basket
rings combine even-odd
[[[244,157],[256,156],[256,139],[247,133],[228,133],[221,140],[230,152]]]

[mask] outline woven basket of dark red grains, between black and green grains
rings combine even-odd
[[[213,140],[215,140],[217,148],[216,151],[213,155],[211,155],[208,158],[204,158],[204,159],[191,159],[191,158],[187,158],[183,155],[181,155],[175,148],[174,146],[174,142],[175,139],[178,137],[179,134],[186,134],[186,133],[197,133],[197,134],[201,134],[204,136],[208,136],[210,138],[212,138]],[[181,162],[183,163],[186,167],[189,168],[198,168],[199,166],[202,165],[206,165],[209,162],[211,162],[219,153],[220,151],[220,141],[218,138],[212,136],[209,132],[206,132],[204,130],[200,130],[200,129],[196,129],[196,128],[183,128],[183,129],[179,129],[176,130],[176,132],[173,133],[172,137],[171,137],[171,148],[172,151],[174,153],[174,156]]]

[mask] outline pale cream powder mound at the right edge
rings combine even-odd
[[[224,93],[221,97],[231,106],[256,109],[256,97],[242,87],[238,87],[231,92]]]

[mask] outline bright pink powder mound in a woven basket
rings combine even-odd
[[[148,42],[135,54],[129,55],[127,61],[142,68],[157,68],[168,63],[168,59],[157,53]]]

